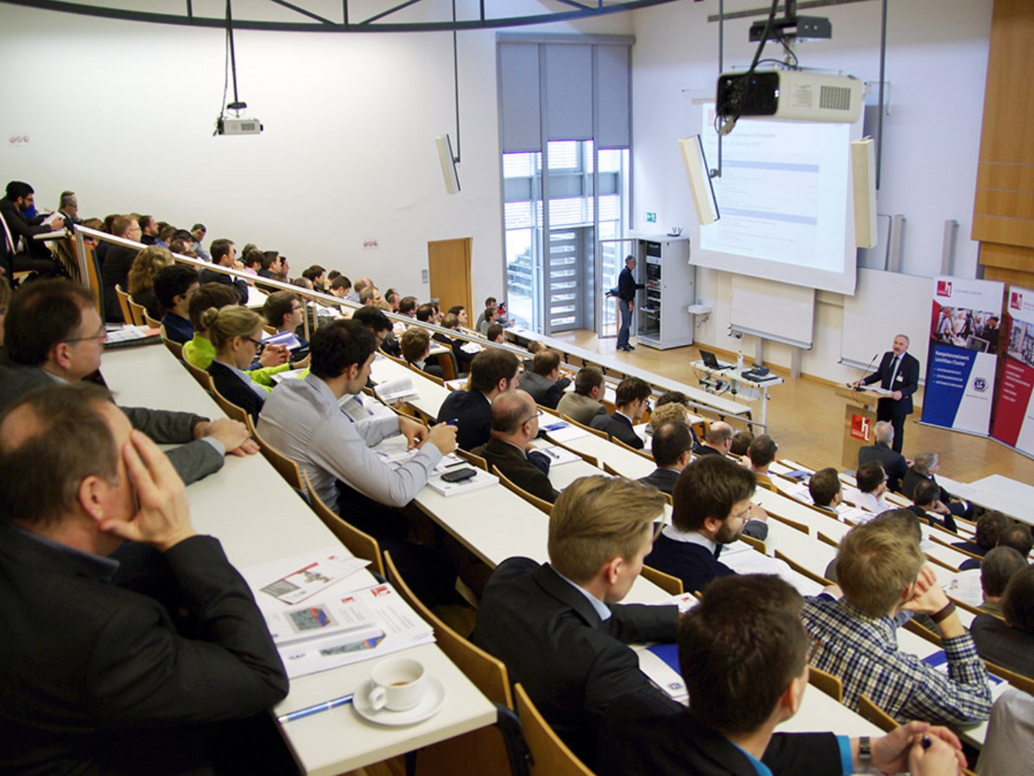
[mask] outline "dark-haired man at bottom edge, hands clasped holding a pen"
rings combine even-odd
[[[757,776],[870,767],[896,773],[908,768],[913,748],[957,770],[965,762],[959,739],[923,722],[873,742],[774,732],[797,713],[808,685],[811,639],[800,622],[801,605],[800,595],[778,576],[716,580],[678,627],[690,708],[648,716],[634,703],[615,704],[600,735],[601,774]],[[916,741],[920,735],[925,742]]]

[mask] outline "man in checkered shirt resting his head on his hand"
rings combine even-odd
[[[844,597],[804,599],[804,627],[817,646],[812,664],[838,677],[844,704],[857,711],[858,696],[899,721],[970,724],[987,718],[987,671],[954,605],[925,565],[918,537],[895,525],[893,510],[853,528],[841,540],[837,579]],[[898,648],[899,611],[929,615],[947,656],[943,673]]]

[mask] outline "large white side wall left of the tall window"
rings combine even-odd
[[[422,7],[403,17],[416,21]],[[203,10],[219,16],[221,6]],[[236,16],[248,10],[235,3]],[[615,14],[578,31],[628,33],[630,25]],[[427,241],[472,236],[475,304],[501,295],[494,30],[459,36],[463,190],[455,197],[445,193],[433,142],[444,132],[455,142],[451,34],[238,31],[240,96],[265,131],[213,138],[224,37],[0,5],[0,69],[10,76],[2,182],[28,181],[52,207],[74,189],[84,217],[135,211],[203,221],[208,239],[276,248],[294,272],[320,263],[419,297],[427,295]],[[23,135],[28,147],[9,143]],[[364,250],[368,239],[379,248]]]

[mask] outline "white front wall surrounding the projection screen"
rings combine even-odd
[[[756,0],[726,2],[726,10],[764,5]],[[841,69],[865,81],[879,80],[879,2],[861,2],[805,11],[828,17],[829,41],[801,43],[800,63]],[[902,269],[910,274],[940,272],[944,221],[959,221],[955,274],[974,277],[977,243],[969,239],[976,183],[977,153],[991,30],[992,0],[891,0],[888,14],[886,80],[890,113],[884,118],[880,213],[907,218]],[[674,3],[635,11],[633,66],[633,220],[658,213],[665,227],[688,227],[692,204],[675,140],[692,135],[694,97],[712,95],[718,76],[718,24],[707,16],[718,2]],[[755,43],[748,41],[752,20],[725,25],[725,68],[750,64]],[[765,56],[777,57],[769,44]],[[688,230],[689,231],[689,230]],[[698,268],[701,300],[714,308],[697,329],[701,342],[735,351],[728,336],[730,275]],[[820,294],[815,345],[804,354],[803,370],[829,380],[853,379],[857,370],[838,363],[843,297]],[[917,300],[929,304],[927,300]],[[874,310],[892,316],[893,310]],[[919,334],[920,332],[916,332]],[[755,352],[746,337],[743,350]],[[889,347],[889,342],[887,344]],[[766,360],[789,365],[790,349],[766,347]]]

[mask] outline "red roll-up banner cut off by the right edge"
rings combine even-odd
[[[1034,291],[1013,286],[1002,322],[1005,363],[995,404],[991,436],[1017,450],[1034,453]]]

